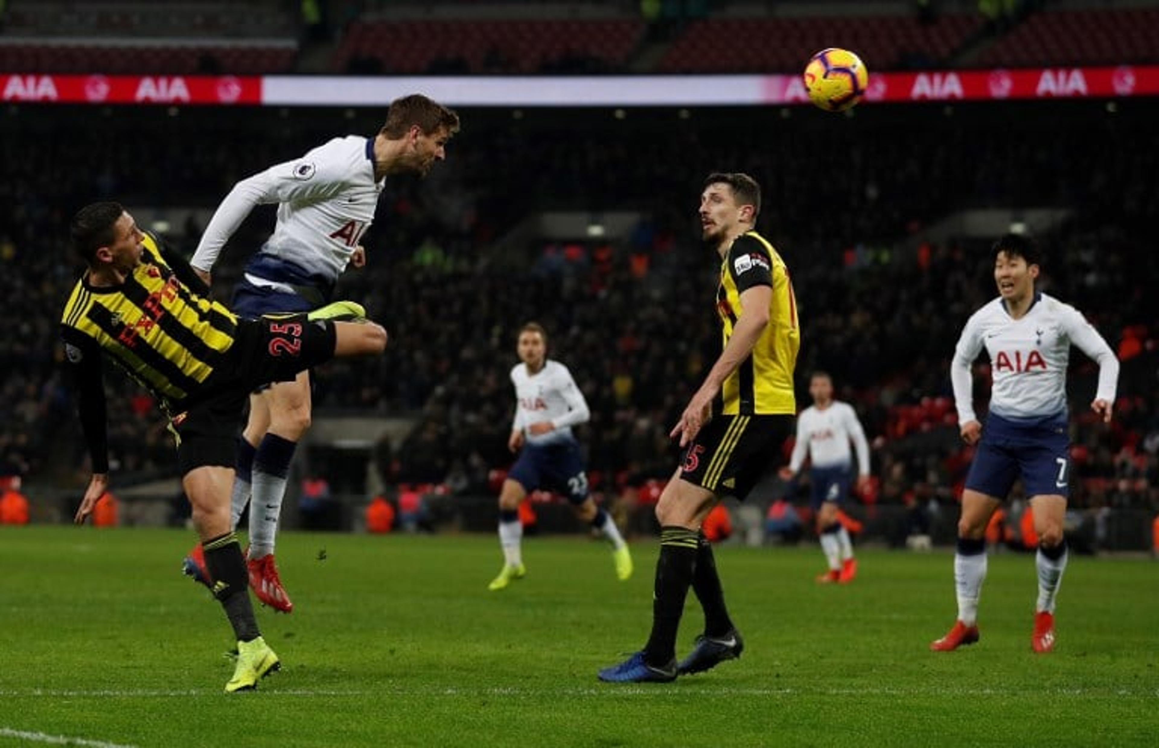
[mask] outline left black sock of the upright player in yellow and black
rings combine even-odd
[[[676,657],[684,599],[697,566],[699,535],[685,527],[662,527],[656,586],[653,592],[653,631],[644,645],[644,661],[664,666]]]

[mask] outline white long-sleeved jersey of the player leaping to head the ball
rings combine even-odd
[[[372,148],[373,140],[360,135],[335,138],[242,179],[213,213],[190,264],[209,272],[254,206],[277,203],[277,225],[263,251],[335,280],[374,220],[382,192]]]

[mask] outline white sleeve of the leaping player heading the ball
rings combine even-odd
[[[333,161],[320,161],[314,152],[296,161],[284,161],[233,185],[213,218],[189,264],[209,272],[221,248],[257,205],[313,203],[336,195],[347,184],[347,174]]]

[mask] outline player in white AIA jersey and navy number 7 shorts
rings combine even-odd
[[[1072,306],[1034,288],[1041,257],[1027,237],[1007,234],[993,247],[999,298],[965,323],[950,368],[962,439],[977,445],[962,492],[954,586],[957,621],[930,644],[949,652],[979,639],[977,614],[986,577],[985,529],[1014,482],[1022,479],[1038,536],[1035,567],[1038,599],[1030,646],[1055,647],[1055,596],[1066,569],[1063,521],[1070,486],[1066,366],[1073,344],[1099,362],[1091,409],[1110,421],[1118,360],[1107,342]],[[974,412],[971,366],[982,349],[990,355],[993,384],[985,427]]]

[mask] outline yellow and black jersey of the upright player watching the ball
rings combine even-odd
[[[721,262],[716,313],[722,325],[723,344],[744,309],[741,294],[753,286],[772,286],[768,325],[752,353],[721,386],[714,412],[723,415],[795,415],[793,372],[801,329],[796,298],[785,261],[757,232],[746,232],[732,241]]]

